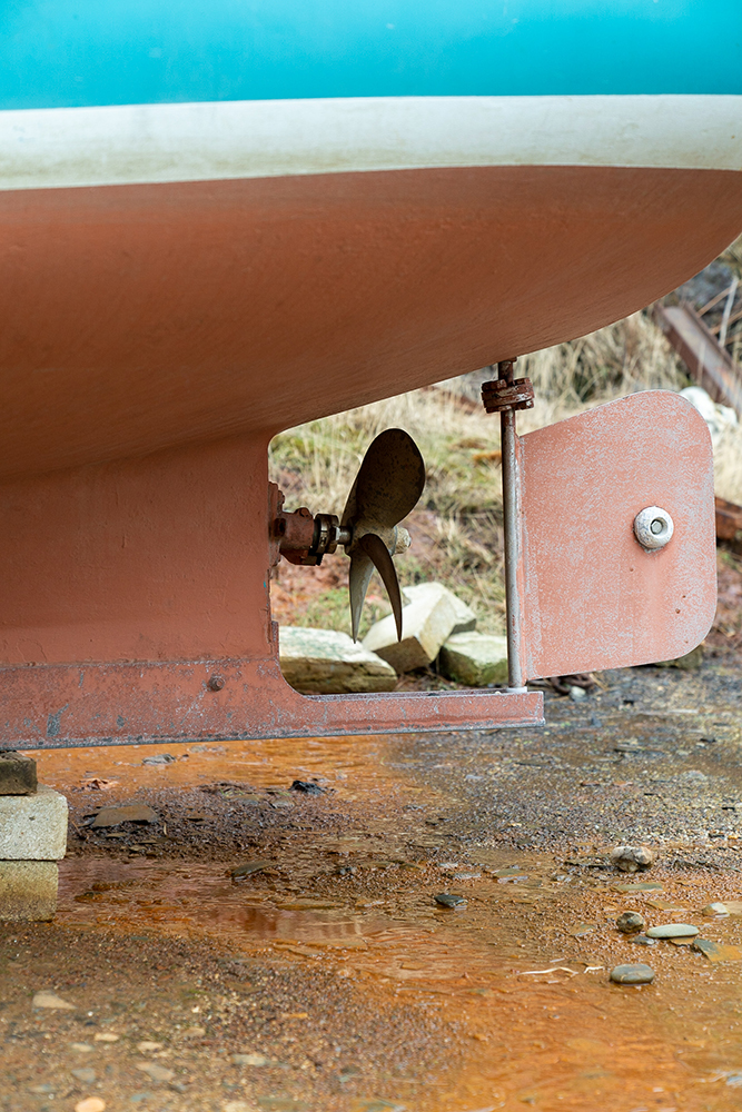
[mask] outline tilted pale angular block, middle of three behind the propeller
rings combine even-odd
[[[382,618],[364,637],[364,648],[388,661],[395,672],[424,668],[456,625],[451,592],[427,592],[402,612],[402,642],[397,643],[394,616]]]

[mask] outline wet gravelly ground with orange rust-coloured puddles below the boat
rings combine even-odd
[[[742,1108],[742,949],[614,926],[742,947],[702,913],[742,900],[739,663],[598,678],[541,731],[38,754],[69,854],[56,921],[0,926],[0,1108]],[[89,825],[132,802],[155,821]]]

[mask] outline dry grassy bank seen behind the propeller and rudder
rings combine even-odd
[[[534,409],[520,415],[522,431],[636,390],[690,385],[682,364],[644,312],[526,356],[517,374],[530,377],[536,389]],[[427,481],[419,512],[408,523],[413,548],[398,560],[400,580],[441,579],[474,606],[481,629],[502,632],[502,500],[495,458],[499,425],[479,405],[481,384],[487,377],[491,371],[477,371],[290,429],[274,439],[270,463],[288,508],[306,505],[313,513],[340,514],[372,439],[385,428],[405,428],[423,453]],[[740,427],[718,446],[716,483],[723,497],[742,502]],[[293,620],[346,628],[342,589],[333,590],[326,606],[319,598]],[[383,588],[372,590],[376,616],[383,610]]]

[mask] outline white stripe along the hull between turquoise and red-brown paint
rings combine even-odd
[[[0,112],[0,189],[474,166],[742,169],[742,96],[376,97]]]

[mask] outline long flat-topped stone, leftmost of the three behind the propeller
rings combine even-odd
[[[390,692],[397,682],[386,661],[354,645],[347,633],[281,626],[278,646],[285,679],[304,694]]]

